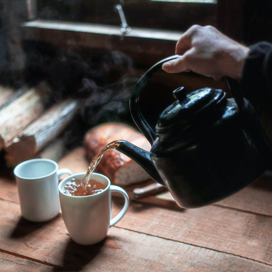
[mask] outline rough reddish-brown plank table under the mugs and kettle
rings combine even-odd
[[[76,173],[86,162],[68,156],[59,165]],[[271,181],[259,178],[198,209],[132,201],[105,240],[81,246],[61,215],[45,223],[24,220],[16,183],[2,174],[0,271],[272,271]],[[113,216],[121,206],[113,199]]]

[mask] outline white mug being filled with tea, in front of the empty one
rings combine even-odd
[[[110,180],[101,174],[93,173],[92,179],[105,186],[103,191],[90,196],[71,196],[63,193],[66,181],[72,178],[82,180],[86,173],[75,174],[65,178],[58,185],[60,206],[66,228],[72,239],[81,245],[92,245],[107,236],[109,227],[115,225],[126,213],[129,197],[119,186],[110,185]],[[111,192],[123,194],[125,204],[122,210],[111,219]]]

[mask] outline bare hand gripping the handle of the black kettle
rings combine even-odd
[[[179,39],[176,54],[182,57],[166,62],[168,73],[191,70],[220,80],[223,76],[238,79],[249,48],[228,38],[212,26],[190,27]]]

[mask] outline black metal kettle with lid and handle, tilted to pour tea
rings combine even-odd
[[[177,204],[196,208],[214,203],[255,180],[270,165],[271,142],[255,110],[242,98],[235,80],[226,78],[233,98],[215,88],[186,95],[160,115],[155,132],[138,104],[148,79],[174,55],[151,67],[135,85],[130,110],[134,122],[149,140],[150,152],[124,141],[117,150],[135,160],[154,180],[165,185]]]

